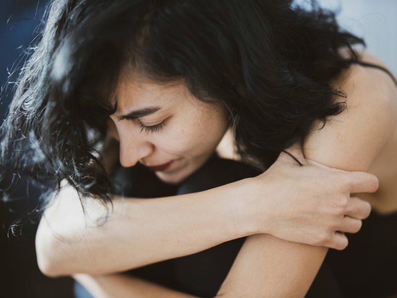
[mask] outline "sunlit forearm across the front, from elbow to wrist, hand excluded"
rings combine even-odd
[[[78,198],[64,194],[40,222],[39,266],[49,276],[115,273],[252,234],[244,196],[239,194],[244,188],[237,187],[244,180],[181,196],[116,198],[106,223],[91,227],[85,227]]]

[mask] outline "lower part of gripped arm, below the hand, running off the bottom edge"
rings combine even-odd
[[[249,236],[218,295],[225,298],[303,298],[328,251],[269,234]]]

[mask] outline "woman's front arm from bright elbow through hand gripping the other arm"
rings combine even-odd
[[[74,189],[64,187],[39,224],[37,260],[48,276],[107,274],[256,233],[343,248],[334,230],[349,230],[356,224],[340,222],[339,210],[327,206],[350,202],[349,215],[357,218],[368,206],[349,201],[347,187],[365,192],[375,190],[377,183],[367,173],[281,162],[255,179],[203,192],[157,199],[116,198],[114,212],[101,226],[96,226],[95,218],[103,211],[94,201],[87,200],[84,217]],[[277,202],[284,202],[284,207],[280,209]]]

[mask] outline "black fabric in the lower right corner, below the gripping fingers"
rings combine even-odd
[[[372,211],[342,251],[330,249],[307,298],[397,295],[397,213]]]

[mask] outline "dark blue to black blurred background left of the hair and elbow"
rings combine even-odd
[[[24,51],[38,35],[42,26],[45,0],[0,0],[0,85],[7,87],[8,71],[15,61],[22,66]],[[23,60],[21,61],[21,58]],[[15,67],[14,67],[15,68]],[[10,80],[15,80],[14,75]],[[13,85],[0,95],[0,119],[5,116],[11,100]],[[1,166],[1,165],[0,165]],[[7,185],[6,179],[0,188]],[[29,185],[29,196],[27,186]],[[72,279],[50,279],[41,274],[36,261],[34,236],[37,223],[27,223],[12,236],[8,226],[18,215],[32,211],[40,191],[20,180],[12,193],[11,202],[0,201],[0,297],[1,298],[72,298]],[[0,193],[1,197],[1,193]],[[29,198],[28,198],[29,197]],[[10,234],[10,237],[7,237]]]

